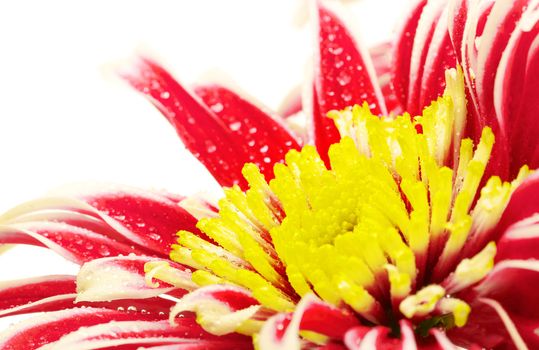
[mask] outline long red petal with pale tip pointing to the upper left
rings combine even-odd
[[[143,93],[176,129],[185,147],[222,186],[245,185],[241,167],[248,161],[232,132],[198,97],[157,63],[139,58],[120,76]]]

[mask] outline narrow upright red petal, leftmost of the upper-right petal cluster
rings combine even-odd
[[[410,60],[417,30],[417,24],[427,0],[416,0],[399,29],[395,52],[393,54],[392,84],[401,106],[406,107],[408,101],[408,84],[410,81]],[[406,109],[406,108],[404,108]]]

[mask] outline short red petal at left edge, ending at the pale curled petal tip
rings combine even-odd
[[[75,288],[68,275],[0,282],[0,317],[73,307]]]

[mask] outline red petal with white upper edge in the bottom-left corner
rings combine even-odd
[[[76,308],[48,312],[15,324],[0,333],[0,349],[37,349],[76,331],[110,321],[140,320],[140,315],[104,308]],[[144,318],[142,318],[144,319]]]

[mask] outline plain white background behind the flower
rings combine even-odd
[[[372,45],[390,38],[406,3],[348,8]],[[0,1],[0,212],[81,181],[216,191],[173,128],[112,67],[149,53],[184,83],[220,72],[276,109],[302,82],[312,50],[311,28],[294,26],[298,4]],[[76,271],[40,248],[0,255],[0,280]]]

